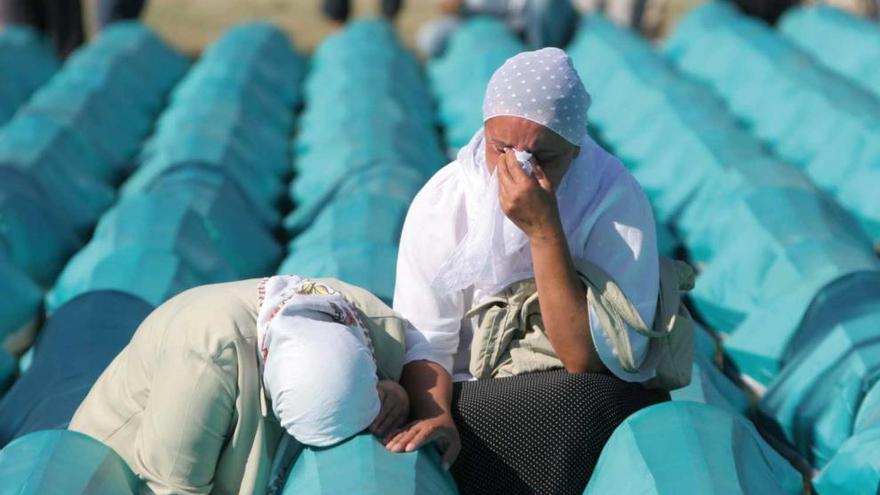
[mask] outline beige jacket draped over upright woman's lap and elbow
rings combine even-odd
[[[623,291],[595,264],[577,260],[575,268],[586,288],[591,311],[612,342],[624,371],[638,369],[633,361],[629,329],[652,337],[641,366],[655,367],[649,388],[673,390],[690,382],[694,323],[681,302],[693,288],[694,273],[683,262],[660,258],[660,291],[652,328],[642,321]],[[522,280],[471,309],[474,337],[470,372],[475,378],[501,378],[562,368],[543,331],[535,279]]]

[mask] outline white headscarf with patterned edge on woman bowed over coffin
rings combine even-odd
[[[323,447],[365,428],[379,414],[372,342],[345,297],[295,275],[264,282],[257,340],[263,382],[281,426]]]

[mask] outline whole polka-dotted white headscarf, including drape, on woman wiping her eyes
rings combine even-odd
[[[483,101],[484,122],[499,115],[528,119],[581,147],[582,153],[556,191],[569,241],[591,201],[585,185],[590,170],[585,161],[592,155],[587,151],[595,147],[587,135],[589,106],[590,96],[571,59],[558,48],[523,52],[508,59],[489,81]],[[442,294],[471,286],[482,294],[493,294],[534,276],[528,238],[501,210],[498,176],[489,174],[485,146],[480,129],[458,153],[457,164],[467,184],[468,230],[432,281]],[[517,151],[518,160],[530,158]],[[582,246],[569,247],[573,256],[582,250]]]

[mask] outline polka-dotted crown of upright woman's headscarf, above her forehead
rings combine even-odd
[[[590,95],[571,58],[559,48],[507,59],[486,88],[483,122],[499,115],[531,120],[578,146],[587,135]]]

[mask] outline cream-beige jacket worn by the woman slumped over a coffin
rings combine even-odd
[[[260,279],[188,290],[151,313],[70,429],[121,455],[156,493],[263,493],[283,430],[262,387]],[[322,281],[363,313],[383,377],[403,366],[406,321],[369,292]]]

